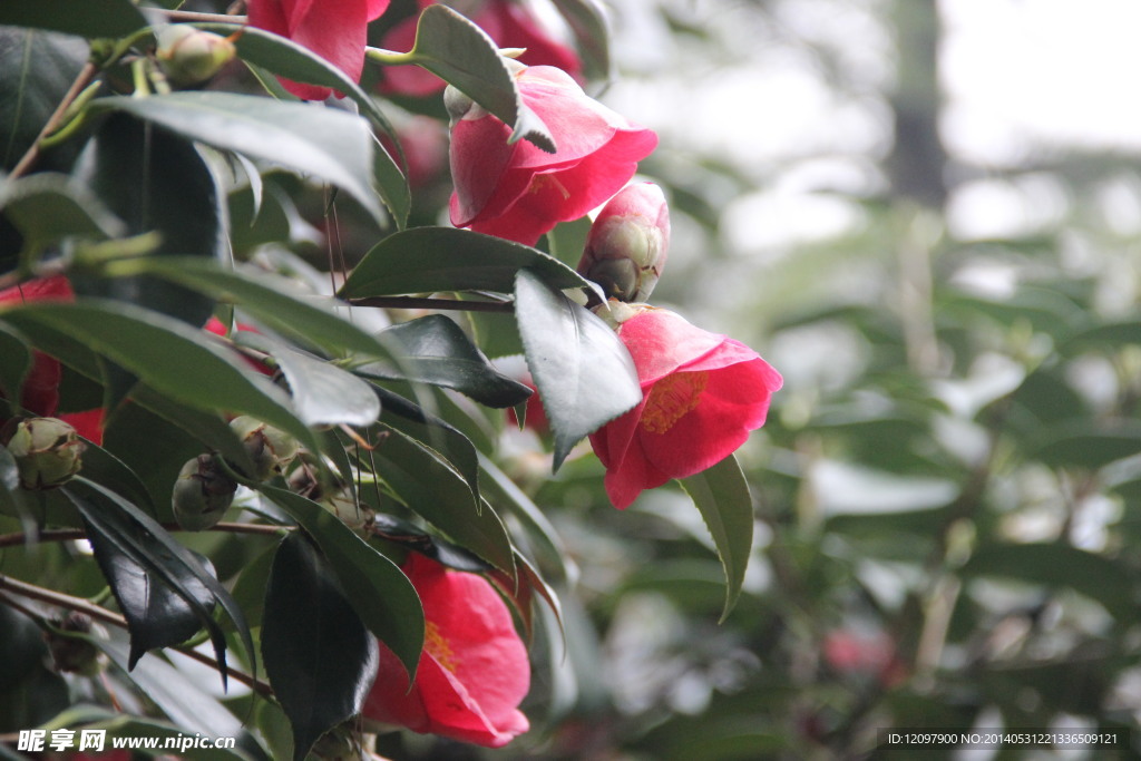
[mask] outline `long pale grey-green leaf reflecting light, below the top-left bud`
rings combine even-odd
[[[91,108],[126,111],[192,140],[313,175],[343,188],[383,225],[372,188],[372,132],[353,114],[233,92],[114,96]]]

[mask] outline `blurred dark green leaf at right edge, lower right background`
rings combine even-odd
[[[964,576],[1003,576],[1030,584],[1068,586],[1101,602],[1122,622],[1138,618],[1133,570],[1109,558],[1061,543],[989,544],[963,566]]]

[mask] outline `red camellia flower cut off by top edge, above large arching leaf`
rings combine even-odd
[[[369,22],[389,0],[249,0],[250,25],[286,37],[333,64],[356,82],[364,71]],[[282,80],[286,90],[306,100],[324,100],[327,87]]]

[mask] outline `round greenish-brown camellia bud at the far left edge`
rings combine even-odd
[[[24,488],[55,488],[79,472],[87,444],[64,421],[29,418],[13,420],[5,428],[5,445],[16,460],[19,485]]]

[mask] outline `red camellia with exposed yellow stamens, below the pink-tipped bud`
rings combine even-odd
[[[642,307],[618,326],[642,400],[591,434],[606,493],[625,508],[646,488],[701,472],[764,424],[782,379],[744,343],[666,309]]]

